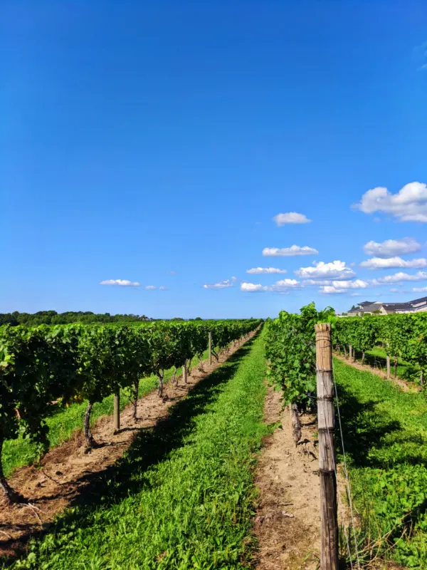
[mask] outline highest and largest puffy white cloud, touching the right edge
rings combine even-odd
[[[384,187],[368,190],[354,207],[365,214],[384,212],[399,222],[427,222],[427,185],[410,182],[396,194]]]

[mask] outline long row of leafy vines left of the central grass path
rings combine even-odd
[[[212,353],[245,337],[260,321],[206,321],[129,326],[57,325],[0,327],[0,488],[9,501],[20,501],[4,477],[4,441],[19,435],[48,448],[46,417],[74,402],[88,401],[84,432],[89,446],[90,410],[107,395],[128,388],[136,402],[139,379],[157,375],[162,396],[164,371],[189,369],[201,358],[211,333]]]

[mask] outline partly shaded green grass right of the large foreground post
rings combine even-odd
[[[334,359],[361,537],[388,535],[382,554],[427,568],[427,400]]]

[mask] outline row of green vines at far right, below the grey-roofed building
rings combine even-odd
[[[427,313],[395,314],[363,317],[339,318],[334,325],[334,346],[342,349],[350,357],[356,351],[365,354],[376,346],[381,346],[390,359],[394,359],[395,369],[399,361],[410,363],[417,371],[423,384],[427,374]]]

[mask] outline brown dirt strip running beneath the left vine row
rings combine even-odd
[[[167,415],[171,405],[184,398],[199,380],[221,366],[242,344],[239,342],[228,354],[221,355],[218,363],[215,358],[212,365],[204,361],[204,373],[194,368],[187,384],[183,383],[181,376],[176,388],[167,383],[164,387],[167,399],[159,398],[157,393],[140,398],[137,416],[142,420],[135,422],[132,405],[127,405],[120,414],[121,429],[117,434],[114,433],[111,416],[99,418],[93,427],[93,435],[101,447],[85,453],[83,434],[76,431],[70,440],[48,452],[37,467],[16,470],[9,482],[25,497],[31,497],[32,507],[26,504],[8,506],[0,498],[0,558],[14,558],[21,554],[31,536],[43,531],[56,514],[69,507],[80,494],[90,490],[95,474],[106,470],[122,457],[139,430],[156,425]]]

